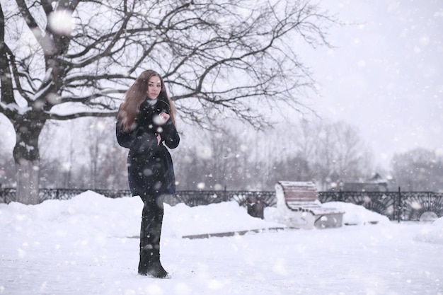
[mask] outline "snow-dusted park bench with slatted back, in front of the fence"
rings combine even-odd
[[[275,185],[280,222],[291,228],[340,227],[345,212],[321,207],[316,186],[311,182],[279,181]]]

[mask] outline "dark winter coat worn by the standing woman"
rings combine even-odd
[[[176,126],[169,119],[165,124],[155,122],[160,112],[169,113],[169,105],[161,98],[154,106],[146,100],[140,105],[135,120],[135,128],[130,132],[122,129],[117,120],[115,132],[120,146],[130,149],[127,155],[128,180],[131,194],[159,196],[176,193],[176,178],[174,175],[171,154],[163,146],[175,149],[180,142]],[[161,142],[157,144],[156,134],[160,134]]]

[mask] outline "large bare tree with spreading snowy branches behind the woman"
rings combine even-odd
[[[163,74],[183,120],[260,127],[251,105],[300,108],[312,81],[292,41],[326,44],[331,22],[309,1],[0,0],[0,112],[16,131],[18,201],[38,202],[46,122],[114,116],[142,69]]]

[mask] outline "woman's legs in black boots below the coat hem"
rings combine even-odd
[[[139,274],[166,277],[168,272],[160,262],[161,225],[163,224],[163,198],[142,197],[142,225],[140,228]]]

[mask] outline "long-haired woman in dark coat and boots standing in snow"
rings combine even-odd
[[[140,229],[139,274],[167,277],[160,262],[163,199],[175,194],[176,180],[170,149],[180,142],[172,101],[161,76],[144,71],[128,89],[117,115],[115,128],[127,156],[131,194],[144,202]]]

